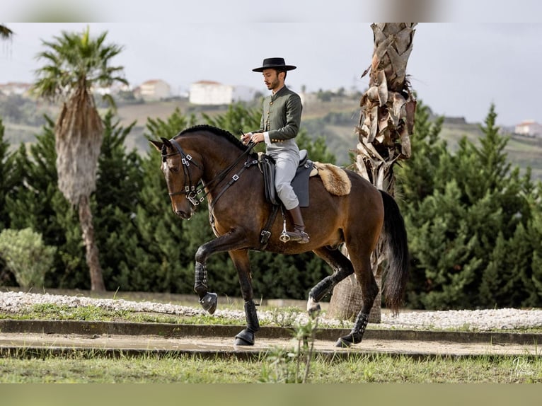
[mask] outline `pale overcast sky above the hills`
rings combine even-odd
[[[21,6],[25,1],[30,0],[14,4]],[[168,3],[156,1],[161,6]],[[297,66],[287,76],[287,85],[294,91],[301,91],[302,86],[307,91],[341,87],[364,91],[369,79],[361,75],[371,62],[374,45],[370,23],[357,17],[363,11],[359,3],[335,0],[333,4],[337,1],[350,6],[352,12],[330,9],[326,16],[318,8],[320,1],[313,0],[318,12],[307,15],[294,6],[288,18],[279,18],[274,17],[280,14],[277,10],[292,2],[274,0],[268,13],[239,16],[223,6],[204,13],[202,4],[228,2],[202,0],[181,6],[169,4],[162,8],[169,11],[163,18],[156,18],[156,13],[142,16],[137,10],[116,14],[115,8],[108,8],[107,16],[93,19],[114,18],[117,22],[4,23],[15,35],[11,41],[0,42],[0,83],[32,82],[40,66],[35,55],[44,50],[41,41],[52,40],[62,30],[82,32],[89,25],[91,35],[108,31],[107,42],[124,47],[113,64],[125,66],[126,79],[132,86],[163,79],[173,93],[179,94],[188,91],[190,83],[209,80],[251,86],[265,93],[261,74],[252,69],[261,66],[264,58],[284,57],[287,64]],[[518,6],[521,1],[526,0],[517,0]],[[119,7],[122,2],[111,3]],[[244,0],[235,3],[254,4]],[[81,0],[81,4],[86,3]],[[186,9],[186,4],[197,6]],[[524,7],[523,13],[517,14],[507,13],[499,8],[498,1],[492,1],[488,4],[493,4],[492,10],[497,13],[492,17],[483,8],[475,9],[473,4],[480,2],[469,4],[465,10],[472,13],[461,14],[466,18],[457,18],[460,22],[446,21],[439,12],[433,12],[426,19],[438,22],[416,25],[407,74],[417,98],[438,115],[465,117],[468,122],[483,122],[492,103],[499,125],[513,126],[523,120],[542,122],[542,23],[536,22],[542,2],[529,2],[530,8]],[[17,18],[15,8],[11,10],[12,21],[24,21]],[[133,19],[127,18],[130,12]],[[537,17],[531,18],[534,13]],[[111,15],[113,18],[107,18]],[[190,18],[194,15],[197,18]]]

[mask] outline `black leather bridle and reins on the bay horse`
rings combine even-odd
[[[241,162],[242,158],[245,155],[248,156],[247,161],[245,162],[245,164],[243,165],[241,170],[239,170],[237,173],[235,173],[231,177],[231,180],[226,184],[224,189],[221,190],[221,192],[219,192],[217,197],[215,199],[213,199],[213,202],[211,204],[211,209],[214,206],[214,204],[217,202],[219,197],[221,197],[221,195],[223,195],[224,192],[226,192],[226,190],[231,185],[233,185],[233,183],[235,183],[239,179],[239,177],[241,176],[241,173],[243,173],[243,171],[246,168],[249,168],[250,166],[253,166],[253,165],[258,165],[258,160],[250,160],[250,156],[248,155],[250,153],[250,151],[253,149],[253,147],[255,146],[255,143],[253,143],[251,141],[248,144],[247,149],[245,151],[243,151],[243,153],[241,153],[241,155],[238,156],[238,158],[236,158],[236,160],[233,161],[233,163],[231,163],[230,166],[228,166],[227,168],[224,168],[224,170],[221,170],[217,174],[217,176],[215,176],[212,180],[205,183],[205,182],[203,182],[202,179],[200,179],[197,183],[192,184],[192,177],[190,176],[190,163],[192,163],[192,165],[194,165],[196,168],[198,168],[200,170],[203,170],[203,166],[201,164],[198,164],[196,161],[194,161],[192,159],[192,156],[190,156],[190,154],[185,153],[185,151],[183,151],[183,148],[175,140],[175,138],[169,139],[169,142],[170,142],[171,145],[173,145],[175,147],[175,149],[177,151],[175,151],[173,153],[167,153],[167,150],[166,150],[167,146],[166,146],[166,144],[163,144],[163,146],[162,146],[162,162],[165,163],[168,160],[168,157],[170,157],[170,156],[180,155],[180,158],[181,158],[180,161],[181,161],[181,164],[183,166],[183,175],[184,175],[184,178],[185,178],[185,185],[184,185],[183,190],[179,190],[177,192],[170,192],[169,196],[173,197],[173,196],[178,196],[178,195],[183,195],[184,194],[186,199],[188,199],[188,201],[190,203],[192,203],[192,205],[195,206],[195,207],[199,206],[200,203],[204,201],[205,197],[207,197],[207,195],[209,195],[209,193],[212,192],[212,190],[214,190],[214,188],[217,187],[220,184],[220,182],[226,178],[228,173],[230,173],[231,170],[233,170],[233,168],[235,168],[237,166],[237,164],[239,162]],[[199,187],[200,184],[202,185],[201,187]],[[209,185],[212,185],[212,184],[214,184],[214,186],[209,187]],[[204,192],[205,187],[207,187],[207,192]],[[200,195],[202,195],[202,196],[200,196]]]

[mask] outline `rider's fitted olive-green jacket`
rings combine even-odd
[[[301,124],[301,98],[286,86],[263,100],[258,132],[269,132],[272,143],[296,137]]]

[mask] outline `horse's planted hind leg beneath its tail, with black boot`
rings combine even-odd
[[[374,280],[371,268],[371,254],[365,252],[360,255],[350,248],[349,253],[352,265],[354,265],[357,281],[362,288],[362,309],[357,313],[354,327],[352,327],[350,334],[340,337],[335,344],[336,347],[350,347],[352,344],[362,342],[365,327],[367,327],[367,323],[369,322],[369,312],[373,307],[374,299],[379,293],[379,286]]]

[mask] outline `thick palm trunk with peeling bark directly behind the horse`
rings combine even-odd
[[[410,157],[416,100],[406,75],[408,57],[413,49],[417,23],[373,23],[373,59],[362,77],[369,74],[369,88],[362,95],[356,169],[364,178],[390,195],[395,192],[393,166]],[[373,255],[376,282],[381,281],[381,263],[386,258],[380,245]],[[374,302],[369,321],[379,323],[380,295]],[[361,289],[346,279],[333,289],[329,313],[348,319],[362,307]]]

